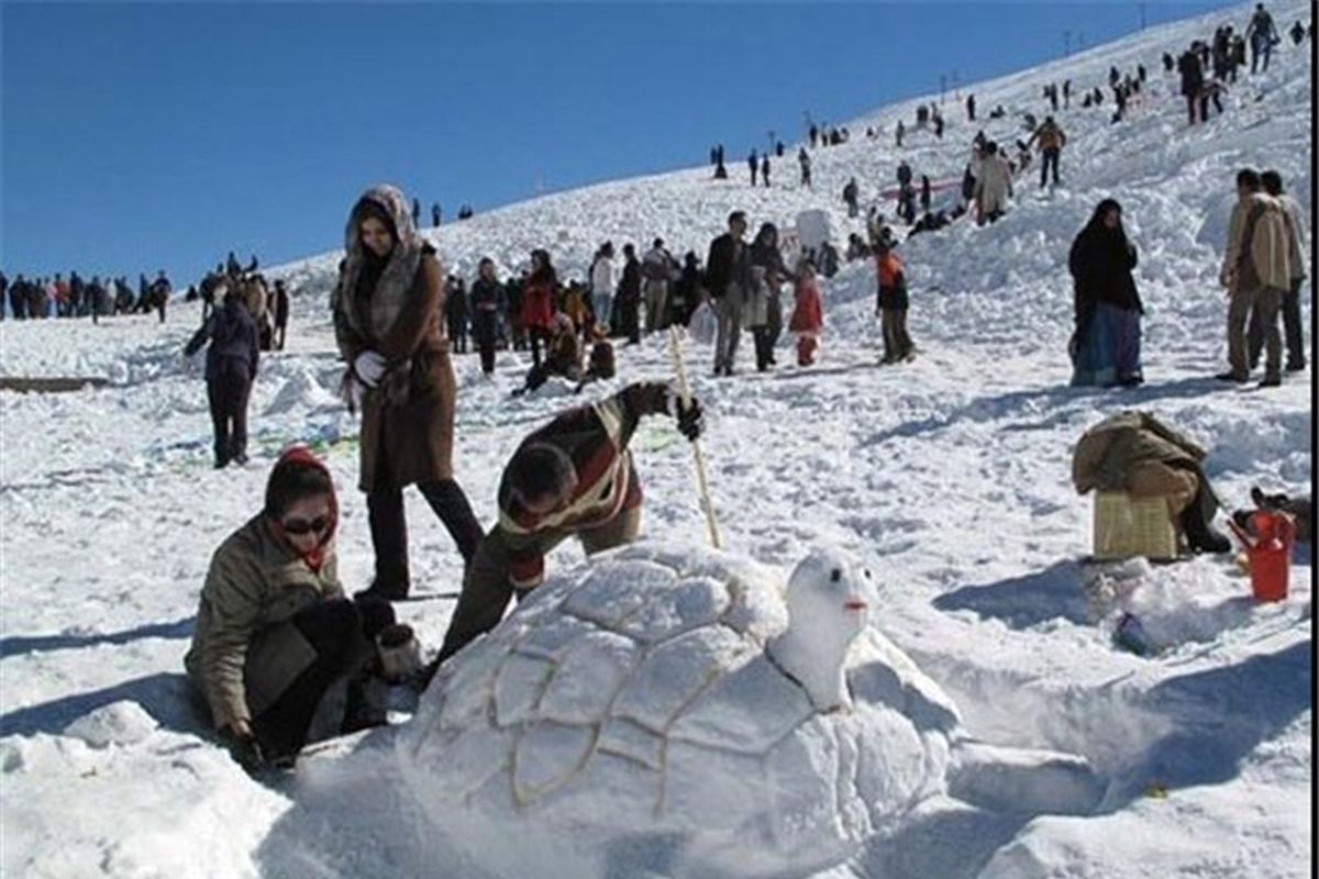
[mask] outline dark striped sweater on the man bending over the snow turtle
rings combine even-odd
[[[662,382],[629,385],[613,397],[572,409],[539,428],[518,447],[557,445],[576,469],[578,485],[568,503],[553,513],[525,510],[513,497],[509,470],[499,488],[499,526],[509,548],[509,579],[516,589],[539,585],[545,553],[565,538],[611,522],[624,510],[641,506],[641,482],[628,441],[642,415],[669,411],[669,386]]]

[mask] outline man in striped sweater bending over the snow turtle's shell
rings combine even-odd
[[[545,556],[576,536],[587,555],[632,543],[641,525],[641,480],[628,443],[644,415],[670,414],[683,436],[702,431],[700,405],[661,382],[629,385],[571,409],[522,440],[499,486],[499,522],[481,539],[445,635],[445,662],[504,615],[509,598],[541,584]]]

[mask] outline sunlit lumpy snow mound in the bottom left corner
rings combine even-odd
[[[33,879],[255,878],[253,854],[290,805],[224,750],[156,729],[131,701],[79,718],[67,735],[0,741],[0,872]],[[54,814],[75,820],[55,834]]]

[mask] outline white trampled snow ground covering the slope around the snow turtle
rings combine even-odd
[[[1312,9],[1270,7],[1283,28]],[[1212,449],[1207,469],[1231,505],[1256,482],[1310,490],[1310,373],[1273,391],[1210,378],[1224,365],[1216,270],[1232,174],[1246,163],[1277,167],[1307,212],[1314,207],[1310,46],[1281,46],[1268,74],[1233,88],[1223,117],[1194,129],[1159,65],[1163,50],[1177,54],[1221,21],[1244,26],[1248,11],[1151,29],[975,87],[983,111],[1009,108],[985,130],[1012,142],[1021,111],[1043,115],[1043,83],[1070,76],[1080,92],[1113,63],[1150,71],[1145,103],[1125,124],[1108,124],[1111,99],[1101,111],[1059,113],[1070,136],[1064,188],[1039,198],[1022,181],[996,227],[958,224],[904,246],[915,362],[874,366],[868,264],[826,285],[814,369],[714,382],[708,348],[687,352],[708,410],[706,453],[727,544],[785,571],[820,539],[869,553],[886,596],[878,627],[952,695],[971,731],[1083,754],[1109,781],[1084,817],[936,804],[909,832],[822,876],[1310,875],[1308,556],[1297,557],[1290,598],[1268,606],[1252,604],[1248,582],[1217,559],[1134,565],[1141,585],[1128,601],[1163,647],[1138,658],[1111,643],[1117,610],[1087,604],[1078,559],[1089,548],[1089,499],[1068,482],[1071,447],[1088,424],[1145,407]],[[483,254],[508,270],[547,245],[576,274],[605,237],[660,235],[703,254],[733,208],[753,224],[790,224],[798,210],[824,207],[845,239],[856,227],[838,200],[843,183],[856,174],[863,194],[890,186],[900,157],[892,127],[898,117],[910,125],[915,103],[857,119],[851,144],[816,152],[815,192],[797,188],[789,157],[769,191],[749,190],[733,161],[724,183],[708,181],[707,169],[623,181],[434,237],[463,273]],[[960,175],[975,128],[951,103],[944,115],[942,144],[909,136],[901,156],[917,174]],[[867,141],[867,125],[885,137]],[[1109,195],[1124,203],[1141,248],[1148,383],[1072,390],[1066,253]],[[0,393],[0,874],[455,875],[425,858],[419,839],[442,839],[443,828],[421,826],[381,783],[380,749],[344,747],[297,781],[253,781],[206,737],[182,677],[210,553],[257,507],[284,444],[324,444],[342,493],[342,573],[350,589],[368,580],[356,423],[331,393],[339,366],[326,303],[336,261],[330,253],[282,269],[301,291],[294,335],[288,352],[262,364],[244,469],[210,469],[199,369],[178,354],[194,307],[177,306],[164,328],[154,318],[0,327],[0,374],[113,382]],[[1308,316],[1308,286],[1302,295]],[[790,351],[780,360],[789,362]],[[501,356],[493,382],[480,378],[475,357],[456,362],[458,474],[489,522],[508,453],[567,401],[553,387],[509,401],[526,366],[518,357]],[[624,351],[620,364],[624,380],[670,373],[660,339]],[[656,419],[636,448],[646,532],[703,542],[686,444]],[[418,497],[408,502],[414,589],[456,589],[447,534]],[[579,557],[565,547],[551,564],[562,571]],[[435,598],[402,614],[435,646],[451,606]],[[557,875],[554,865],[543,875]]]

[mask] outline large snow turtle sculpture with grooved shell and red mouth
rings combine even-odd
[[[868,625],[871,572],[780,582],[637,544],[451,659],[397,754],[454,875],[807,875],[947,792],[956,708]]]

